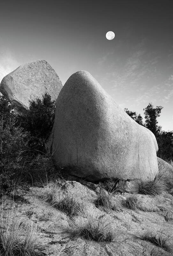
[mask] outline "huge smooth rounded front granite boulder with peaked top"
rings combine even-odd
[[[89,181],[153,180],[158,172],[154,135],[86,71],[59,93],[51,141],[56,166]]]

